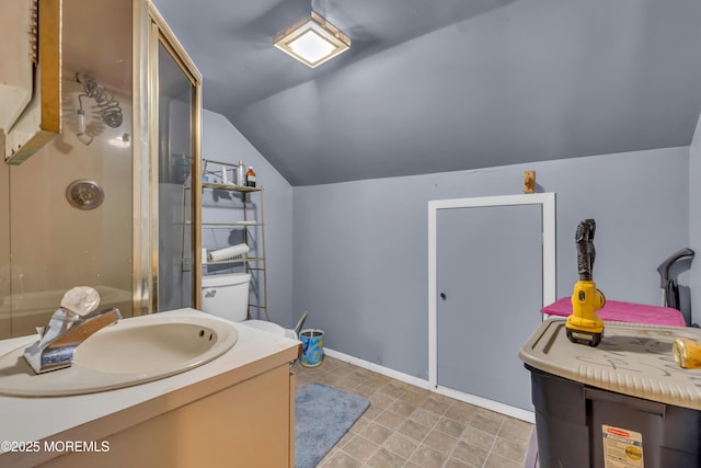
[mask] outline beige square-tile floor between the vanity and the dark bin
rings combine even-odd
[[[522,468],[533,425],[325,356],[295,364],[310,383],[363,395],[370,408],[319,468]]]

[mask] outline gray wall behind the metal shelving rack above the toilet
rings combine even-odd
[[[251,146],[226,117],[205,111],[203,117],[204,159],[235,163],[242,159],[252,165],[257,183],[265,194],[265,240],[267,254],[268,312],[271,319],[281,326],[290,327],[298,312],[290,309],[292,304],[292,187],[289,183]],[[203,199],[203,219],[220,217],[218,206],[231,206],[227,199]],[[231,213],[229,221],[235,220]],[[226,218],[226,214],[225,214]],[[219,246],[226,247],[226,246]]]

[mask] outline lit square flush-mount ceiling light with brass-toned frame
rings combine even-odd
[[[350,38],[317,12],[273,39],[275,47],[310,68],[337,56],[350,47]]]

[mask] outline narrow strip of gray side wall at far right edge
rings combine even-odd
[[[689,148],[689,243],[697,252],[691,263],[691,316],[701,323],[701,117]],[[696,183],[694,183],[696,182]],[[694,306],[696,305],[696,311]]]

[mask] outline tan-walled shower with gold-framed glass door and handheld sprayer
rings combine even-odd
[[[0,339],[79,285],[125,318],[195,306],[202,78],[168,78],[183,60],[146,1],[42,1],[62,8],[61,132],[0,164]]]

